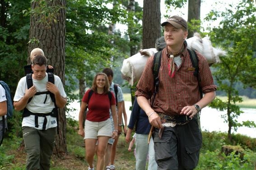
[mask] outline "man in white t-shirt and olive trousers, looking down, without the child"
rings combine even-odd
[[[67,102],[61,79],[54,75],[54,84],[48,82],[52,74],[47,74],[46,69],[46,57],[34,57],[32,76],[28,74],[20,79],[14,96],[14,109],[24,109],[22,133],[28,155],[26,170],[50,170],[58,116],[56,107],[63,108]],[[29,78],[33,82],[30,88]]]

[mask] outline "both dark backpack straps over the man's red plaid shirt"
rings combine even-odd
[[[186,43],[186,41],[185,41],[185,43]],[[200,79],[200,75],[199,75],[198,56],[196,55],[195,50],[190,50],[190,49],[187,48],[187,51],[189,53],[189,57],[190,57],[192,66],[195,68],[194,76],[197,77],[197,80],[200,83],[201,79]],[[154,54],[154,63],[153,63],[153,75],[154,75],[155,91],[154,91],[153,100],[151,102],[151,106],[153,106],[155,96],[156,96],[156,94],[158,93],[158,90],[159,90],[158,74],[159,74],[159,69],[161,67],[161,59],[162,59],[162,51],[156,52]],[[199,86],[199,92],[200,92],[200,98],[203,98],[203,92],[202,92],[202,89],[201,89],[200,86]]]

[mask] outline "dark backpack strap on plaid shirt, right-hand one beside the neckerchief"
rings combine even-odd
[[[199,85],[199,83],[201,82],[201,78],[200,78],[200,75],[199,75],[199,65],[198,65],[199,61],[198,61],[197,54],[196,54],[195,50],[187,49],[187,51],[189,53],[189,57],[190,57],[192,66],[195,68],[194,76],[197,77],[197,80],[198,80],[200,98],[203,98],[203,92],[202,92],[202,89],[201,89],[201,87]]]

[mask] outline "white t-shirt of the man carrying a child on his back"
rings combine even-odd
[[[37,92],[47,91],[46,89],[47,82],[48,82],[48,74],[42,80],[33,79],[33,85],[36,87]],[[65,98],[67,95],[61,83],[61,78],[54,75],[54,84],[58,88],[59,92],[61,93],[61,96]],[[14,101],[21,100],[21,98],[24,96],[26,92],[26,89],[28,89],[28,86],[27,86],[27,81],[25,76],[19,80],[16,92],[15,92],[15,96],[14,96]],[[47,100],[44,103],[46,96],[47,96]],[[49,94],[42,94],[42,95],[33,96],[32,100],[27,104],[26,108],[33,113],[49,113],[53,108],[55,108],[55,106],[54,106],[54,102],[51,101],[51,97]],[[36,128],[35,116],[30,115],[28,117],[23,118],[22,127],[28,126],[28,127],[33,127],[33,128],[42,130],[43,121],[44,121],[44,117],[38,116],[38,128]],[[57,126],[56,118],[52,116],[47,116],[46,129],[53,128],[56,126]]]

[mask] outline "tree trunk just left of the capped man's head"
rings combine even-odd
[[[160,0],[143,1],[142,48],[155,48],[161,35]]]

